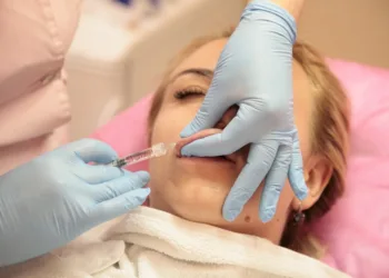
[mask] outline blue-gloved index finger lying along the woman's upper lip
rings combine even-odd
[[[246,133],[250,132],[250,130],[247,128],[247,123],[242,120],[239,111],[222,132],[198,139],[183,146],[181,148],[181,155],[184,157],[226,156],[250,143],[247,137],[243,136],[243,130],[246,130]]]

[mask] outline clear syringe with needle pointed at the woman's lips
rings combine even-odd
[[[166,145],[163,142],[160,143],[156,143],[153,146],[151,146],[151,148],[131,153],[126,156],[124,158],[119,158],[117,160],[113,160],[112,162],[110,162],[109,165],[112,165],[114,167],[124,167],[128,165],[134,165],[138,163],[140,161],[144,161],[154,157],[162,157],[166,153],[168,153],[168,151],[172,148],[176,147],[176,143],[169,143]]]

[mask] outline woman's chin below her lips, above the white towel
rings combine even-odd
[[[218,226],[239,167],[223,158],[177,158],[150,165],[151,206],[183,219]],[[152,178],[151,178],[152,181]]]

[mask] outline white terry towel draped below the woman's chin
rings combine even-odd
[[[39,276],[7,277],[349,277],[266,239],[187,221],[147,207],[128,214],[104,240],[62,250],[56,259],[41,264]],[[53,276],[56,268],[61,272]]]

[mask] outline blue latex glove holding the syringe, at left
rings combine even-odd
[[[0,177],[0,267],[61,247],[82,232],[140,206],[148,172],[108,163],[106,143],[84,139]]]

